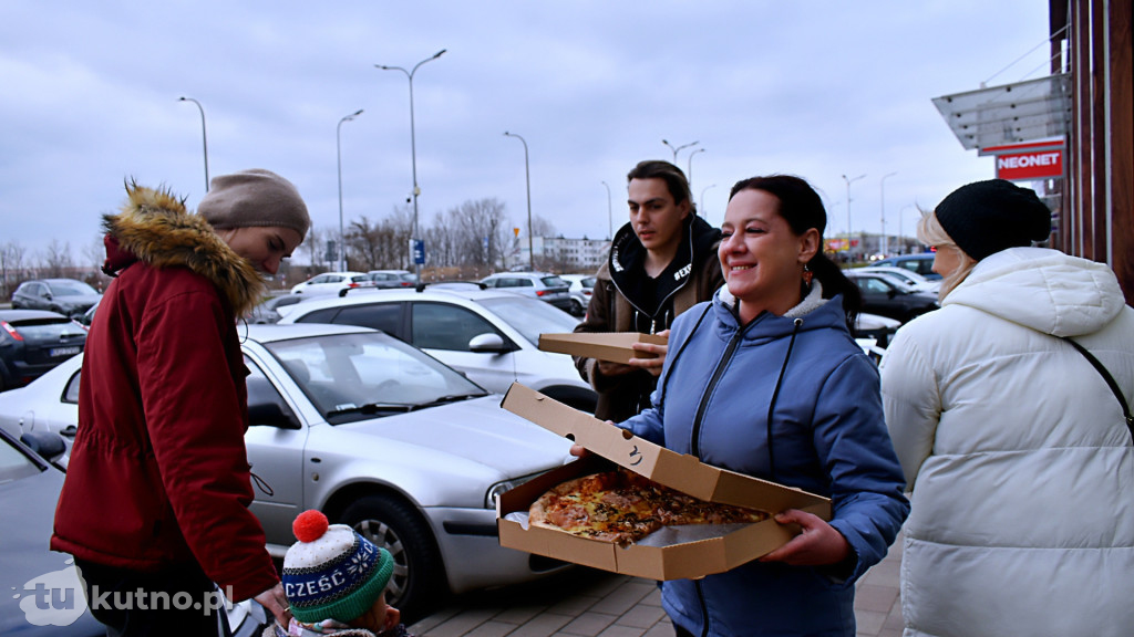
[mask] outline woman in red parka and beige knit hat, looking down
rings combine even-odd
[[[236,317],[303,241],[306,205],[266,170],[217,177],[197,214],[164,189],[129,184],[127,194],[103,218],[115,280],[86,341],[51,547],[75,557],[92,613],[115,635],[227,632],[213,583],[286,625],[247,509]]]

